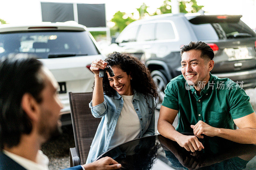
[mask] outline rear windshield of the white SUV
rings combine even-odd
[[[0,33],[0,57],[27,53],[37,59],[99,54],[86,31]]]

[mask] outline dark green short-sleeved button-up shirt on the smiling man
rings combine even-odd
[[[191,124],[199,120],[217,128],[234,129],[233,119],[253,113],[250,97],[234,81],[210,73],[205,88],[197,95],[182,75],[173,78],[164,90],[162,105],[179,110],[179,132],[193,133]]]

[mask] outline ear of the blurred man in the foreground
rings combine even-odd
[[[32,122],[38,121],[40,115],[39,104],[31,94],[25,93],[22,96],[21,108],[27,113]]]

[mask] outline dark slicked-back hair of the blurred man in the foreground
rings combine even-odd
[[[44,81],[40,76],[43,64],[36,59],[7,58],[0,61],[0,151],[20,143],[22,134],[32,131],[31,120],[22,110],[25,93],[40,103]]]

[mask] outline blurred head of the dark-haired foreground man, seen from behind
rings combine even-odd
[[[0,62],[0,149],[36,134],[44,142],[58,129],[62,105],[57,81],[36,59]]]

